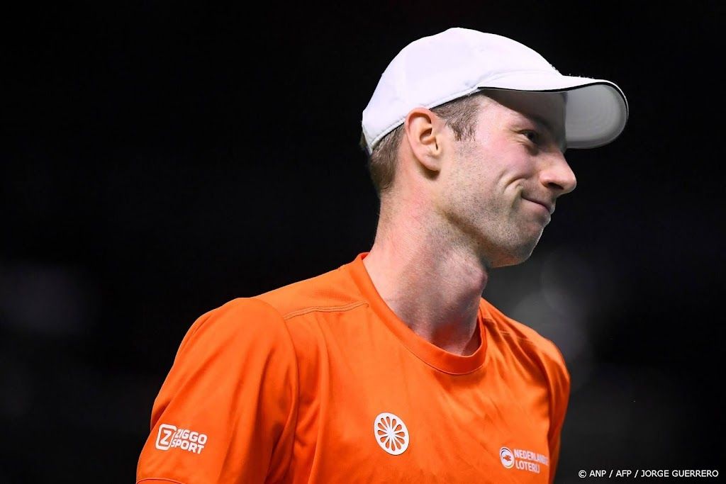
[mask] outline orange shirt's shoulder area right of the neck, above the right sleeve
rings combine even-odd
[[[523,345],[534,350],[540,358],[564,366],[562,353],[552,340],[540,335],[526,324],[510,318],[484,298],[481,299],[481,309],[489,322],[488,329],[496,333],[495,337],[513,345]]]

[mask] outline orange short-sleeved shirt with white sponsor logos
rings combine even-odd
[[[457,356],[380,298],[362,253],[210,311],[154,402],[137,482],[548,483],[569,375],[482,299]]]

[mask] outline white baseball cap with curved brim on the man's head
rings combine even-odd
[[[625,94],[614,83],[562,75],[537,52],[510,38],[449,28],[405,46],[380,76],[363,111],[368,152],[415,107],[436,107],[480,89],[567,91],[568,148],[608,144],[628,118]]]

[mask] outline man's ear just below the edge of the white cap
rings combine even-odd
[[[411,151],[419,163],[430,171],[439,171],[446,143],[444,120],[425,107],[417,107],[406,116],[404,128]]]

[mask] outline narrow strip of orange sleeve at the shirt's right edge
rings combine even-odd
[[[554,348],[553,357],[550,361],[550,406],[551,419],[550,431],[547,432],[547,442],[550,447],[550,484],[555,482],[555,472],[560,459],[560,434],[565,422],[568,401],[570,398],[570,374],[567,371],[565,360],[557,347]]]

